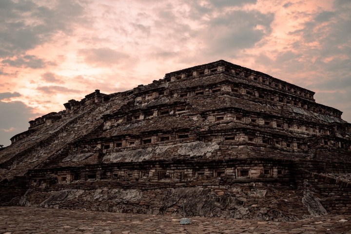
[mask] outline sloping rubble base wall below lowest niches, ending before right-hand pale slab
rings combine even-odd
[[[58,184],[49,189],[31,187],[20,205],[181,215],[184,202],[185,213],[189,216],[287,221],[309,214],[307,209],[301,209],[301,193],[288,185],[261,182],[223,185],[216,180],[203,180],[201,184],[92,181]]]

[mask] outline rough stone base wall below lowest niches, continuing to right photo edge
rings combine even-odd
[[[41,188],[31,186],[19,204],[181,215],[184,201],[185,212],[190,216],[280,221],[323,215],[324,208],[332,214],[351,213],[349,183],[309,172],[300,175],[304,183],[297,186],[293,182],[264,178],[246,179],[246,182],[238,179],[236,183],[225,178],[199,178],[183,183],[92,180]]]

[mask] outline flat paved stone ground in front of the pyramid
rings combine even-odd
[[[72,211],[30,207],[0,207],[0,234],[351,234],[351,216],[327,215],[295,222],[181,217]]]

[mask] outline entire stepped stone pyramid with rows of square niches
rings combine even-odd
[[[351,215],[351,124],[314,92],[219,60],[30,121],[0,204],[291,221]]]

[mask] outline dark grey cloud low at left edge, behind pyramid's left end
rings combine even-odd
[[[36,116],[33,108],[20,101],[0,101],[0,144],[11,144],[10,138],[28,130],[30,119]]]

